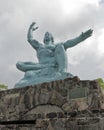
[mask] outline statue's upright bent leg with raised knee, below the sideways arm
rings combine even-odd
[[[67,56],[65,48],[62,44],[58,44],[55,48],[55,58],[58,65],[58,71],[63,73],[67,70]]]

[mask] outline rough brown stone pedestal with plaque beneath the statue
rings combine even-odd
[[[78,77],[0,91],[0,130],[103,130],[103,101]]]

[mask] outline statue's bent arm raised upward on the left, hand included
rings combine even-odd
[[[32,45],[32,47],[33,47],[34,49],[38,49],[39,46],[40,46],[40,43],[39,43],[38,41],[36,41],[35,39],[33,39],[33,31],[35,31],[36,29],[38,29],[38,27],[35,27],[35,28],[34,28],[34,25],[35,25],[35,24],[36,24],[36,23],[33,22],[33,23],[30,25],[30,27],[29,27],[29,29],[28,29],[28,33],[27,33],[27,40],[28,40],[28,42]]]

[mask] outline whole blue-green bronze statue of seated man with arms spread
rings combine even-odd
[[[24,87],[73,77],[72,74],[67,72],[67,56],[65,51],[90,37],[93,31],[89,29],[74,39],[58,44],[54,44],[52,34],[46,32],[44,44],[41,44],[33,38],[33,31],[38,29],[34,25],[35,22],[28,29],[27,40],[36,50],[39,63],[17,62],[17,68],[25,72],[25,75],[15,87]]]

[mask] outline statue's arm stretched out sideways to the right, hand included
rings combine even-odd
[[[73,47],[75,45],[77,45],[78,43],[84,41],[85,39],[87,39],[88,37],[90,37],[92,35],[93,30],[89,29],[86,32],[82,32],[81,35],[79,35],[78,37],[68,40],[66,42],[64,42],[64,47],[65,49]]]

